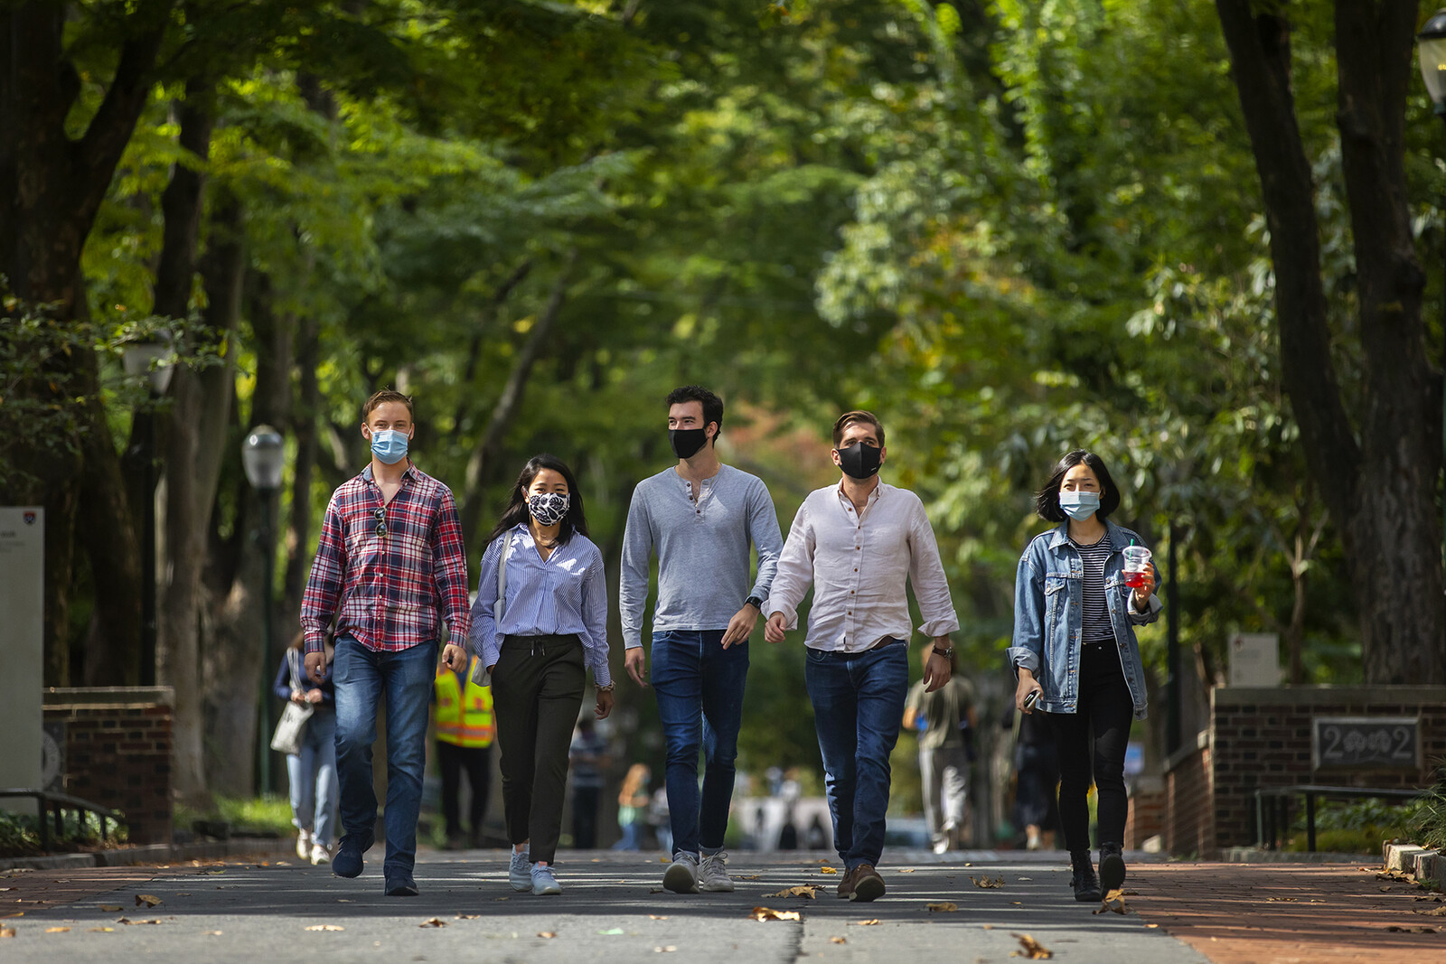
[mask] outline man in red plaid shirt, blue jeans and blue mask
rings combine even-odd
[[[372,464],[331,494],[321,541],[301,601],[307,672],[325,673],[322,642],[335,620],[337,778],[344,831],[331,869],[362,873],[373,844],[376,791],[372,744],[376,710],[386,695],[386,877],[388,896],[415,896],[416,814],[427,765],[427,717],[440,636],[438,614],[451,639],[466,640],[467,556],[451,490],[406,457],[412,399],[383,390],[367,399],[362,436]],[[467,666],[461,646],[442,660]]]

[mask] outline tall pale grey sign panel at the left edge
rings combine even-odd
[[[39,788],[45,684],[45,509],[0,506],[0,613],[6,669],[0,673],[0,786]],[[0,799],[6,809],[35,814],[29,798]]]

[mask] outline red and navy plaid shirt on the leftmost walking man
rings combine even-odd
[[[451,490],[409,464],[385,503],[367,465],[331,494],[321,523],[301,600],[307,652],[321,650],[334,616],[337,636],[375,650],[409,649],[438,637],[438,610],[451,639],[466,640],[467,555]]]

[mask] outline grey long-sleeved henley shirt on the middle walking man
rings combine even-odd
[[[748,588],[749,543],[758,548],[758,577]],[[658,554],[654,632],[727,629],[749,595],[768,598],[784,538],[768,487],[756,475],[722,465],[693,486],[669,467],[638,483],[623,532],[619,610],[623,643],[642,646],[648,569]],[[768,607],[763,607],[768,611]]]

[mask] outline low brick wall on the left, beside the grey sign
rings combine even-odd
[[[65,726],[65,792],[126,815],[133,844],[171,843],[169,687],[45,691]]]

